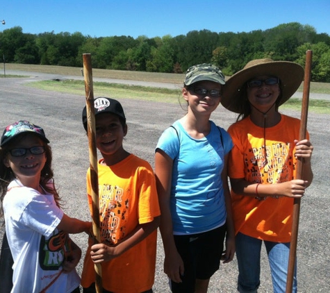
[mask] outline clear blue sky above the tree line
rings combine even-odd
[[[299,22],[330,35],[329,0],[0,0],[0,31],[81,32],[91,37],[163,37],[208,29],[265,30]]]

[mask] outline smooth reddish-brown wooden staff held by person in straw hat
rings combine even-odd
[[[313,51],[306,51],[306,64],[304,76],[304,92],[302,94],[302,115],[299,129],[299,141],[306,138],[307,115],[308,115],[308,101],[309,101],[309,86],[311,84],[311,63]],[[297,179],[302,179],[304,167],[304,160],[297,162]],[[292,234],[290,242],[290,254],[288,262],[288,276],[286,278],[286,293],[292,292],[293,278],[295,276],[295,260],[297,256],[297,240],[299,227],[299,213],[300,213],[300,198],[293,201],[292,212]]]

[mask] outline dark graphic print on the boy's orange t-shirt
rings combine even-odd
[[[101,215],[101,240],[103,243],[116,244],[124,237],[126,212],[129,201],[123,201],[124,190],[116,185],[99,186],[99,210]]]

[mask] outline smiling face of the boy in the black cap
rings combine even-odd
[[[105,160],[116,157],[122,160],[122,142],[127,134],[127,126],[122,126],[119,117],[109,112],[95,117],[97,149]]]

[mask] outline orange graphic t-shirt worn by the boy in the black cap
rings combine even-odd
[[[130,155],[113,166],[98,164],[101,242],[109,246],[129,235],[138,224],[160,215],[154,171],[145,160]],[[90,171],[87,176],[90,212],[92,198]],[[154,284],[157,231],[151,233],[121,256],[102,263],[104,289],[116,293],[144,292]],[[81,285],[94,282],[94,262],[88,243]]]

